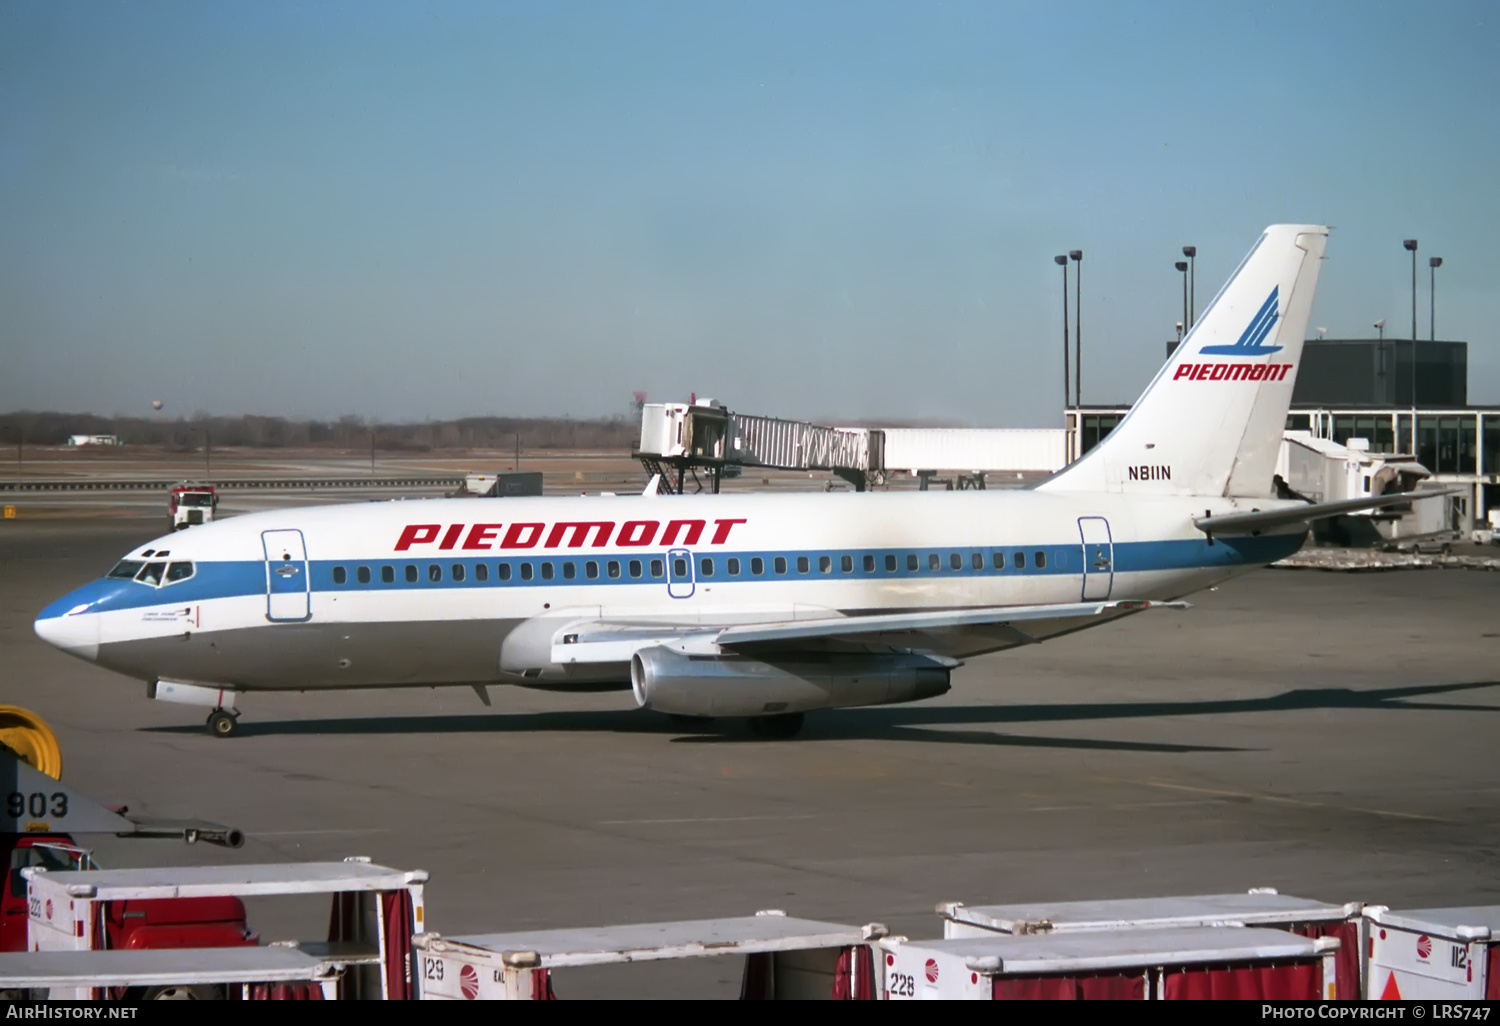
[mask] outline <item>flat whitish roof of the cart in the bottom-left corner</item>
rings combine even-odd
[[[18,951],[0,954],[0,987],[158,987],[322,980],[328,963],[296,948]]]

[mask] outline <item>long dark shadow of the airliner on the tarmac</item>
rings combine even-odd
[[[1248,712],[1290,712],[1299,710],[1416,710],[1448,712],[1500,712],[1500,705],[1412,700],[1456,692],[1500,687],[1500,681],[1462,684],[1424,684],[1350,690],[1341,687],[1298,688],[1250,699],[1185,702],[1101,702],[1056,705],[885,705],[860,710],[831,710],[808,716],[798,742],[810,741],[920,741],[939,744],[990,744],[1029,748],[1086,748],[1107,752],[1250,752],[1206,744],[1167,744],[1112,741],[1101,738],[1058,738],[999,734],[982,729],[1016,723],[1068,723],[1086,720],[1130,720],[1167,716],[1236,716]],[[969,729],[963,729],[969,728]],[[201,734],[201,726],[141,728],[153,734]],[[483,712],[474,716],[393,716],[339,717],[324,720],[246,720],[238,735],[390,735],[390,734],[676,734],[676,742],[724,744],[759,741],[742,723],[724,720],[684,728],[664,716],[638,710]]]

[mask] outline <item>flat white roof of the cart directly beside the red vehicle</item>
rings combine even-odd
[[[216,894],[330,894],[396,891],[428,879],[424,870],[369,862],[272,862],[266,866],[164,866],[158,868],[48,873],[22,870],[33,885],[62,888],[70,897],[164,898]]]

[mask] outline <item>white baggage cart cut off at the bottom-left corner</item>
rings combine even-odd
[[[334,998],[339,968],[296,948],[22,951],[0,954],[0,993],[42,998],[156,994],[240,999]]]

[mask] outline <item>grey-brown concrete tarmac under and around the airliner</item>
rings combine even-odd
[[[57,652],[36,612],[159,525],[0,522],[0,700],[64,780],[242,850],[96,842],[110,866],[369,855],[432,873],[446,934],[780,908],[938,936],[942,900],[1276,886],[1500,903],[1500,574],[1266,570],[1028,651],[942,699],[684,734],[628,692],[260,696],[242,735]],[[252,904],[320,938],[322,902]],[[564,970],[561,996],[732,996],[735,960]]]

